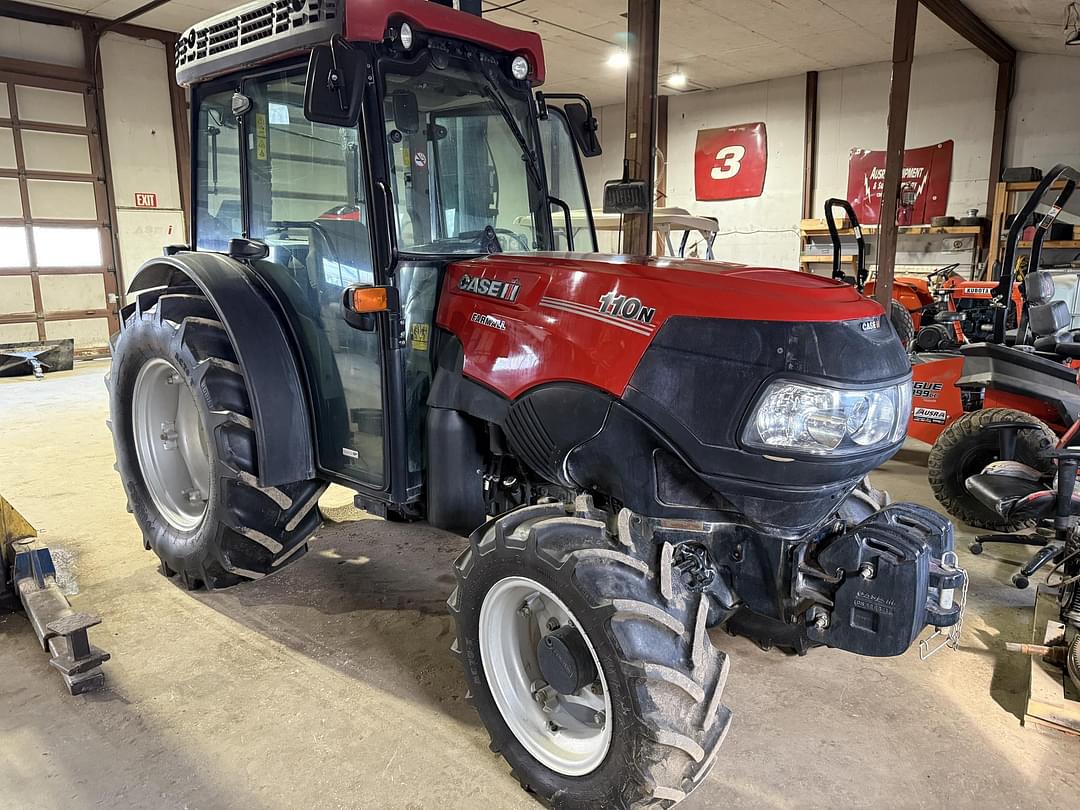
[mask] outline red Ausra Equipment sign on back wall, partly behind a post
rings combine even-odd
[[[951,175],[951,140],[905,151],[896,224],[929,225],[934,217],[945,216]],[[848,199],[863,225],[877,225],[881,219],[883,186],[885,151],[852,149],[848,160]]]

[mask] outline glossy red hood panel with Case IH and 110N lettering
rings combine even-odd
[[[575,381],[621,395],[672,316],[858,321],[881,307],[853,287],[794,270],[692,259],[497,254],[450,265],[437,323],[457,335],[464,374],[513,399]]]

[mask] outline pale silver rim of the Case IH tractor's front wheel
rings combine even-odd
[[[552,620],[581,633],[596,667],[596,681],[573,694],[546,687],[540,673],[536,647]],[[581,623],[550,589],[527,577],[497,582],[481,606],[480,651],[502,719],[535,759],[567,777],[604,761],[613,729],[607,679]]]

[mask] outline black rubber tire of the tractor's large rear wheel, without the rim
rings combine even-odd
[[[160,296],[160,297],[159,297]],[[164,359],[194,394],[207,437],[212,472],[202,522],[181,531],[170,525],[150,497],[132,429],[132,396],[139,369]],[[113,338],[109,428],[127,496],[143,530],[144,546],[161,559],[162,572],[188,589],[227,588],[260,579],[299,558],[322,523],[320,481],[259,487],[255,433],[247,387],[227,333],[210,301],[194,291],[143,293]]]

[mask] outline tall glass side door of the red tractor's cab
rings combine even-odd
[[[386,374],[380,328],[346,323],[345,289],[378,284],[367,167],[355,126],[303,114],[306,69],[246,78],[241,116],[247,235],[270,255],[260,275],[285,299],[307,369],[319,465],[373,490],[388,488]],[[297,403],[301,407],[301,403]]]

